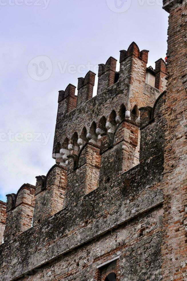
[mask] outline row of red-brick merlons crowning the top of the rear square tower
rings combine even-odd
[[[106,64],[99,64],[97,95],[103,93],[117,82],[119,82],[118,87],[122,87],[125,90],[124,82],[127,84],[133,84],[133,77],[136,75],[140,78],[141,82],[145,82],[148,52],[148,50],[140,51],[138,45],[135,42],[132,42],[127,51],[120,51],[119,72],[116,71],[117,60],[112,56],[108,58]],[[138,61],[142,63],[138,64]],[[142,69],[142,73],[138,71],[137,67]],[[82,107],[86,101],[92,98],[93,87],[95,85],[95,75],[96,74],[92,71],[88,71],[84,78],[78,78],[77,96],[75,96],[76,87],[71,84],[67,86],[65,91],[59,91],[58,102],[61,103],[61,106],[59,107],[59,111],[61,114],[67,114],[76,107]],[[128,81],[126,79],[128,79]],[[166,83],[165,81],[159,81],[159,75],[157,80],[157,84],[155,84],[154,87],[162,91],[162,89],[160,89],[158,85],[161,85],[163,83],[163,88],[165,89]],[[130,93],[128,95],[130,95]]]

